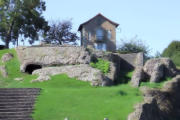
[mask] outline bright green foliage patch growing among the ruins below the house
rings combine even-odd
[[[109,72],[110,69],[110,63],[109,61],[103,60],[103,59],[98,59],[97,62],[91,62],[90,65],[93,68],[97,68],[99,70],[101,70],[102,73],[107,74]]]

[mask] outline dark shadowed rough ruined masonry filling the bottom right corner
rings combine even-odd
[[[164,84],[161,90],[141,88],[144,101],[135,106],[128,120],[179,120],[180,75]]]

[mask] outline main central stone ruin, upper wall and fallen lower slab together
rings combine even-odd
[[[143,65],[143,53],[121,55],[76,46],[18,47],[16,51],[21,72],[39,75],[32,82],[49,80],[52,75],[65,73],[69,77],[89,81],[93,86],[109,86],[118,80],[121,66],[132,69]],[[97,58],[110,62],[108,74],[89,66]]]

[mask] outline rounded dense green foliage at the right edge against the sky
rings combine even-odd
[[[169,57],[180,66],[180,41],[172,41],[162,53],[163,57]]]

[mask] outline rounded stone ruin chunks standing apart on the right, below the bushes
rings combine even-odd
[[[180,74],[175,64],[169,58],[154,58],[148,60],[144,67],[136,67],[131,79],[131,85],[138,87],[142,81],[161,82],[166,77]]]

